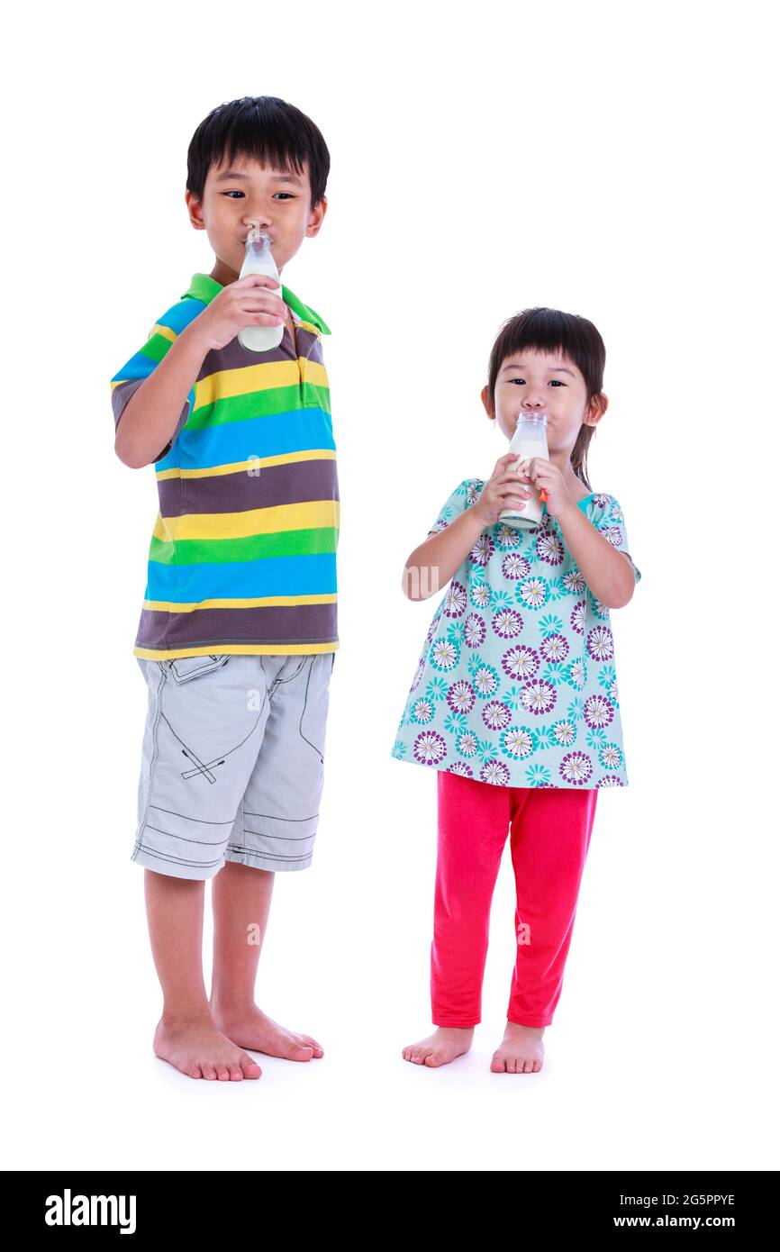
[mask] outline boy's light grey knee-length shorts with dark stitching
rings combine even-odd
[[[208,879],[307,869],[336,652],[136,657],[149,687],[131,860]]]

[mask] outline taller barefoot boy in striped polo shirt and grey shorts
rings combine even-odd
[[[210,274],[111,379],[115,451],[155,464],[159,513],[134,655],[149,687],[131,859],[144,866],[163,988],[154,1052],[190,1078],[259,1078],[253,1048],[322,1057],[254,1003],[274,871],[312,861],[328,682],[339,646],[339,493],[323,319],[268,275],[238,279],[247,235],[277,269],[319,233],[329,153],[274,96],[198,126],[185,200]],[[283,326],[269,352],[245,326]],[[162,449],[162,451],[160,451]],[[214,879],[212,994],[204,881]]]

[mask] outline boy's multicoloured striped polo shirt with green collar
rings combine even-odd
[[[194,274],[146,343],[111,378],[116,429],[130,396],[223,290]],[[288,287],[295,323],[272,352],[238,337],[209,351],[172,442],[155,458],[159,512],[135,656],[334,652],[339,495],[329,328]]]

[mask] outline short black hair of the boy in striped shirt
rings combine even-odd
[[[326,194],[331,153],[322,134],[305,113],[275,95],[245,95],[218,104],[204,118],[187,150],[187,189],[203,203],[203,189],[212,165],[228,168],[234,156],[253,158],[279,170],[303,174],[309,163],[310,208]]]

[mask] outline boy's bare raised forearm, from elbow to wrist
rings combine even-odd
[[[195,318],[136,387],[116,419],[114,451],[124,464],[140,470],[168,452],[187,421],[188,397],[208,351]]]

